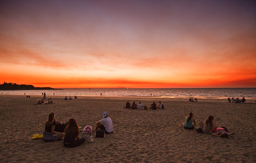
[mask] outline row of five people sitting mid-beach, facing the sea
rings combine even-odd
[[[129,101],[126,102],[124,108],[128,108],[128,109],[138,109],[138,110],[148,110],[148,107],[147,106],[143,106],[143,104],[141,102],[139,102],[139,104],[137,105],[135,102],[132,103],[132,106],[131,106],[131,103],[129,103]],[[150,104],[150,107],[149,109],[152,109],[152,110],[156,110],[156,109],[164,109],[164,104],[161,103],[161,101],[159,101],[158,105],[156,106],[156,103],[155,101],[153,101],[153,103]]]

